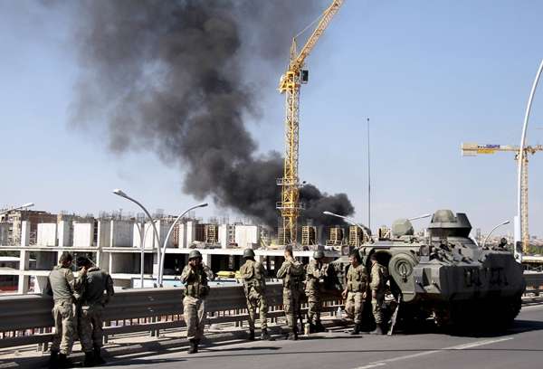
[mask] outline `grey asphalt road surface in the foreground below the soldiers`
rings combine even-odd
[[[294,368],[543,368],[543,306],[523,307],[514,326],[491,336],[421,333],[398,336],[348,336],[343,332],[299,341],[208,346],[198,354],[171,350],[138,354],[109,368],[294,369]]]

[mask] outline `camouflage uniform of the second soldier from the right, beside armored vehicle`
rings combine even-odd
[[[347,272],[347,300],[345,311],[356,325],[362,324],[362,310],[364,308],[364,292],[367,290],[367,271],[364,265],[357,268],[352,265]]]

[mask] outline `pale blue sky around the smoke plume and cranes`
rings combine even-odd
[[[512,219],[513,155],[462,157],[460,144],[519,145],[543,58],[542,14],[538,1],[346,0],[308,60],[300,179],[347,193],[366,223],[369,117],[374,229],[440,208],[467,213],[483,232]],[[167,213],[197,203],[182,194],[182,174],[153,153],[117,156],[101,128],[70,126],[79,68],[73,22],[62,7],[0,0],[0,206],[32,201],[51,212],[137,212],[111,194],[118,187]],[[261,117],[247,122],[262,152],[284,147],[281,72],[263,76]],[[543,90],[534,101],[530,144],[543,142],[541,129]],[[540,163],[543,153],[529,166],[530,232],[538,235]],[[226,213],[239,215],[214,206],[197,215]]]

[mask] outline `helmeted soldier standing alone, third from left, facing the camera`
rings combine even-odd
[[[198,352],[200,339],[204,336],[205,298],[209,294],[208,279],[214,279],[213,271],[202,262],[200,251],[190,251],[188,265],[181,273],[181,281],[185,284],[183,314],[186,323],[186,339],[190,343],[188,354]]]

